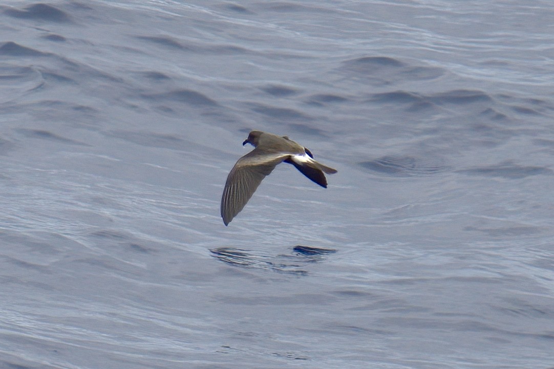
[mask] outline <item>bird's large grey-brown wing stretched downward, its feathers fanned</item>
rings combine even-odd
[[[288,155],[260,154],[254,149],[241,157],[227,176],[221,198],[223,223],[230,221],[244,208],[265,176]]]

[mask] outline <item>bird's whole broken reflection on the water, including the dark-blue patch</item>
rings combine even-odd
[[[306,275],[306,264],[320,262],[325,259],[324,255],[335,253],[336,250],[297,245],[290,254],[276,256],[233,247],[220,247],[210,252],[214,258],[233,266]]]

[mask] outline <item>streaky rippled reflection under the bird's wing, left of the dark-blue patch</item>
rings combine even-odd
[[[273,257],[233,247],[220,247],[211,249],[210,252],[217,260],[232,266],[278,271],[280,273],[295,275],[306,275],[308,273],[302,268],[305,260],[297,260],[297,258],[288,255]]]

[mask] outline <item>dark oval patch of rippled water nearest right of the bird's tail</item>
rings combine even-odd
[[[445,166],[425,163],[411,156],[383,156],[360,162],[359,165],[375,172],[399,177],[433,175],[448,169]]]

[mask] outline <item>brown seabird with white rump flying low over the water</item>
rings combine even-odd
[[[310,180],[327,188],[325,173],[336,173],[333,168],[314,160],[314,156],[304,146],[286,136],[278,136],[261,131],[252,131],[243,145],[250,143],[254,150],[239,158],[227,176],[221,198],[223,223],[230,221],[244,208],[265,176],[281,162],[294,165]]]

